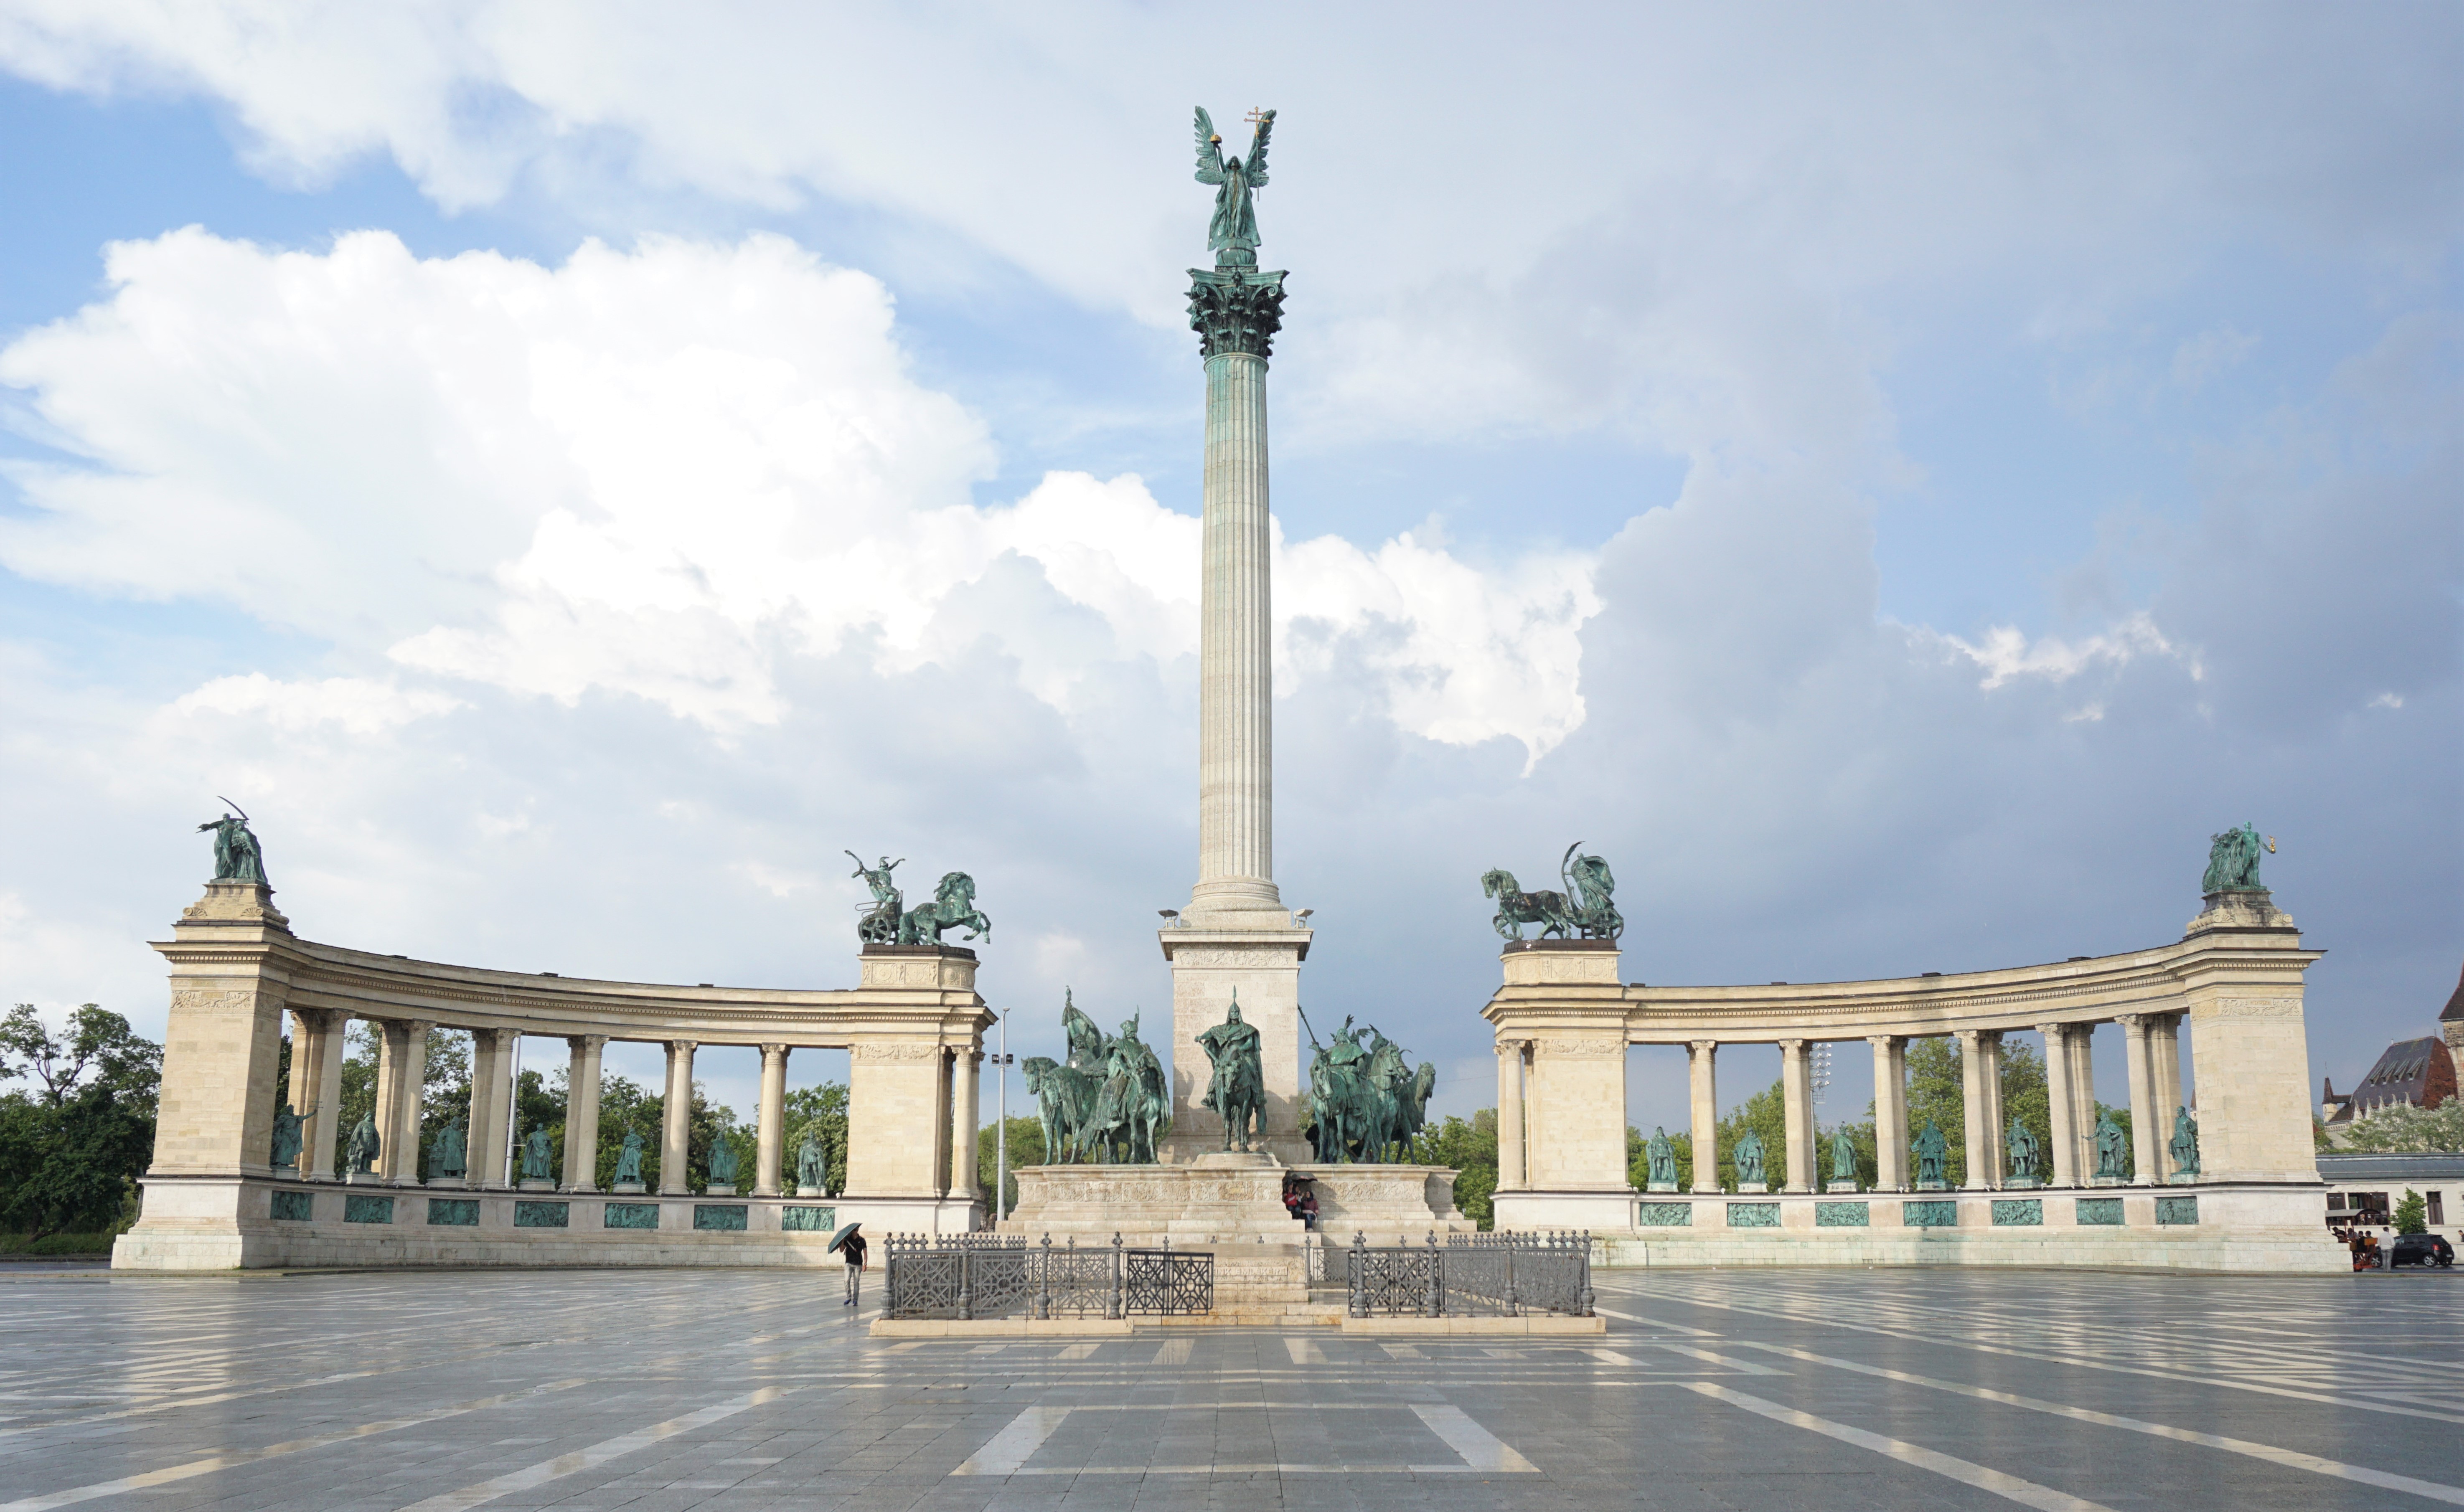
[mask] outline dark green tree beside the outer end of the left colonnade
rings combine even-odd
[[[163,1047],[94,1002],[62,1034],[30,1002],[0,1019],[0,1229],[42,1239],[116,1229],[136,1216],[153,1157]]]

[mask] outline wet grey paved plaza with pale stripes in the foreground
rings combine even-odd
[[[1496,1345],[885,1342],[838,1295],[0,1278],[0,1512],[2464,1505],[2454,1276],[1602,1271],[1604,1340]]]

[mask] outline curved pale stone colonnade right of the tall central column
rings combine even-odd
[[[1762,987],[1653,987],[1624,983],[1609,941],[1525,941],[1503,953],[1506,985],[1483,1017],[1498,1052],[1498,1226],[1577,1226],[1634,1234],[1626,1258],[1651,1263],[1823,1263],[1789,1239],[1823,1241],[1841,1261],[2168,1263],[2210,1268],[2333,1268],[2324,1241],[2319,1172],[2309,1128],[2304,951],[2292,919],[2267,894],[2218,894],[2181,941],[2122,955],[2050,965],[1868,983],[1772,983]],[[2198,1037],[2195,1096],[2183,1088],[2181,1027]],[[2094,1079],[2089,1037],[2117,1024],[2129,1049],[2134,1177],[2107,1192],[2094,1172]],[[2008,1184],[2001,1108],[2001,1039],[2043,1032],[2053,1150],[2048,1177]],[[1907,1150],[1905,1052],[1910,1039],[1956,1037],[1966,1113],[1966,1187],[1912,1202],[1912,1234],[1897,1204],[1855,1212],[1818,1180],[1809,1049],[1865,1042],[1875,1061],[1878,1180],[1863,1197],[1915,1197]],[[1680,1044],[1690,1061],[1693,1192],[1651,1202],[1626,1177],[1626,1047]],[[1717,1052],[1777,1044],[1786,1150],[1772,1152],[1779,1202],[1710,1202],[1717,1187]],[[2168,1150],[2176,1108],[2198,1116],[2198,1170],[2176,1170]],[[2139,1192],[2146,1189],[2146,1192]],[[2163,1207],[2156,1197],[2190,1197]],[[2089,1197],[2094,1209],[2065,1209]],[[2139,1197],[2134,1216],[2104,1219],[2104,1204]],[[2205,1209],[2200,1207],[2205,1202]],[[2149,1224],[2188,1226],[2163,1244],[2053,1229],[2112,1224],[2126,1236],[2144,1207]],[[1749,1209],[1749,1212],[1727,1212]],[[1836,1212],[1823,1212],[1836,1209]],[[2198,1214],[2181,1219],[2166,1214]],[[2060,1221],[2048,1214],[2060,1214]],[[1833,1229],[1833,1219],[1838,1226]],[[2006,1221],[2008,1219],[2008,1221]],[[1732,1221],[1774,1234],[1735,1234]],[[2011,1234],[2028,1226],[2033,1234]],[[1853,1229],[1855,1234],[1843,1234]],[[1885,1229],[1900,1229],[1887,1236]],[[1974,1234],[1969,1234],[1974,1229]],[[1799,1234],[1801,1231],[1801,1234]],[[1915,1241],[1927,1246],[1917,1249]],[[1947,1239],[1969,1241],[1964,1251]],[[2080,1249],[2087,1239],[2087,1249]],[[2072,1244],[2080,1241],[2080,1244]],[[2070,1249],[2065,1251],[2065,1244]],[[2122,1253],[2114,1244],[2136,1244]],[[2316,1251],[2316,1253],[2314,1253]],[[1614,1253],[1614,1246],[1611,1246]]]

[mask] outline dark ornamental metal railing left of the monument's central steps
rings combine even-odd
[[[981,1244],[998,1239],[998,1244]],[[1215,1310],[1210,1251],[1055,1249],[1025,1236],[892,1234],[890,1317],[1178,1317]]]

